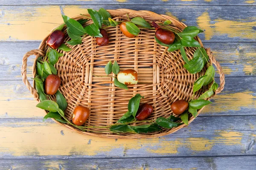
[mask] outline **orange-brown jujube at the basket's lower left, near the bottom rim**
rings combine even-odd
[[[83,125],[90,115],[90,110],[84,106],[77,106],[73,113],[72,122],[75,125],[81,126]]]

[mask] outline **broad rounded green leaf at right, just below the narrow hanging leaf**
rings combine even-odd
[[[204,59],[202,59],[200,57],[191,59],[189,61],[189,63],[190,63],[190,65],[186,63],[184,65],[184,68],[186,68],[189,71],[189,73],[191,73],[191,74],[200,72],[204,67]]]

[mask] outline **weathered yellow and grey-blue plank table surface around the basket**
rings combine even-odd
[[[188,127],[155,139],[82,136],[42,122],[20,76],[23,54],[61,14],[101,7],[154,11],[204,29],[199,37],[224,69],[224,91]],[[1,0],[0,51],[0,170],[256,169],[256,0]]]

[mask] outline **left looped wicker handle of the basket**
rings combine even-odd
[[[21,76],[22,76],[22,80],[24,82],[24,84],[26,85],[26,87],[29,89],[29,91],[31,92],[32,95],[34,95],[35,99],[38,99],[38,93],[35,90],[35,88],[32,87],[32,85],[29,83],[29,80],[26,76],[26,68],[27,68],[27,58],[31,55],[37,55],[40,54],[42,56],[44,56],[44,51],[42,50],[31,50],[29,52],[27,52],[22,59],[22,66],[21,66]],[[34,66],[33,66],[34,67]]]

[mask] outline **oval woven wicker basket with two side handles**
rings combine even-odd
[[[171,26],[179,31],[186,27],[185,24],[172,17],[156,14],[151,11],[134,11],[130,9],[108,11],[116,21],[127,19],[128,14],[130,18],[137,16],[143,17],[149,23],[152,21],[163,22],[165,20],[171,20]],[[89,16],[88,14],[86,15]],[[75,20],[83,18],[84,17],[81,15],[73,17]],[[87,22],[85,25],[90,23],[91,22]],[[190,74],[183,68],[184,61],[179,50],[168,52],[168,47],[161,46],[155,42],[155,30],[142,29],[141,33],[134,38],[125,37],[120,31],[119,26],[106,28],[106,30],[110,37],[110,42],[107,46],[100,47],[96,44],[95,37],[87,36],[82,40],[82,44],[80,45],[68,45],[73,49],[70,52],[58,50],[59,52],[64,53],[64,56],[60,57],[55,68],[58,71],[58,76],[61,77],[61,87],[59,90],[67,99],[68,103],[65,116],[70,121],[72,120],[74,108],[77,105],[84,105],[90,108],[90,117],[86,122],[87,126],[113,125],[128,110],[127,105],[129,99],[138,93],[145,96],[145,98],[141,100],[141,103],[147,102],[153,105],[154,112],[148,119],[154,121],[158,117],[168,117],[170,114],[173,114],[170,105],[175,100],[189,100],[192,97],[193,83],[198,77],[204,75],[207,65],[204,66],[200,73]],[[64,33],[66,34],[66,42],[69,40],[66,28],[64,28]],[[37,91],[33,88],[35,86],[32,87],[32,85],[30,85],[26,76],[26,62],[30,55],[36,55],[32,69],[33,77],[35,77],[36,59],[40,56],[44,56],[45,51],[49,48],[46,44],[48,37],[49,34],[41,42],[38,50],[29,51],[24,55],[21,68],[23,82],[38,101]],[[196,37],[196,40],[198,40],[203,47],[203,44],[198,37]],[[192,59],[196,48],[185,49],[187,56]],[[210,63],[216,66],[220,75],[220,86],[215,91],[215,94],[218,94],[224,88],[224,74],[221,66],[216,61],[215,57],[213,57],[209,49],[207,49],[207,54],[209,55]],[[90,70],[97,76],[104,76],[104,66],[110,60],[117,61],[121,71],[127,68],[136,70],[138,72],[139,84],[128,86],[129,89],[124,90],[115,87],[112,78],[93,77]],[[198,96],[207,91],[210,85],[211,84],[196,92],[193,99],[197,99]],[[50,96],[49,98],[55,100],[55,96]],[[198,112],[200,113],[202,109]],[[195,118],[189,114],[189,123],[194,119]],[[115,139],[158,137],[173,133],[186,126],[183,124],[172,129],[164,128],[161,132],[147,134],[122,133],[116,135],[105,128],[90,129],[101,131],[102,133],[83,132],[72,126],[61,124],[59,122],[57,123],[76,131],[77,133]],[[147,123],[134,123],[134,125],[145,124]]]

